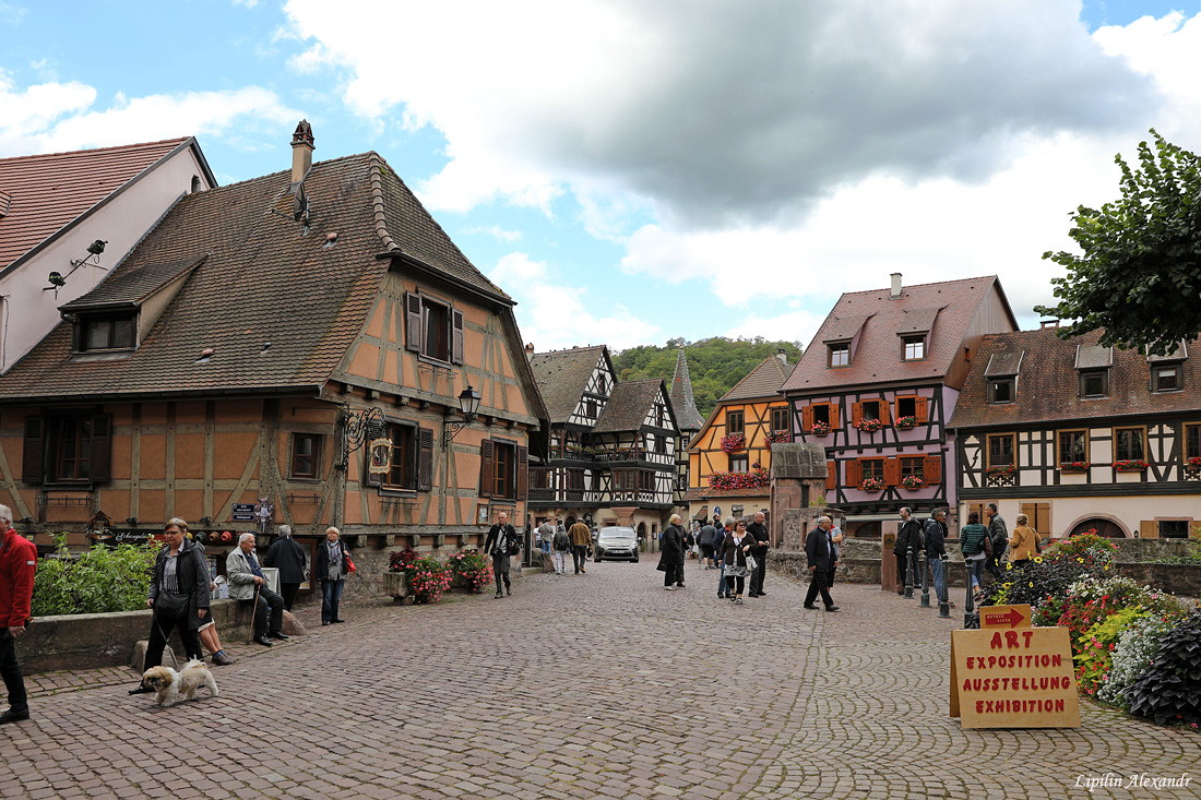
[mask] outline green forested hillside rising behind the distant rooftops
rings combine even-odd
[[[676,351],[681,345],[685,358],[688,359],[692,393],[701,417],[707,417],[723,394],[749,375],[763,359],[775,356],[777,348],[782,347],[788,353],[789,364],[795,364],[801,357],[800,344],[766,341],[761,336],[734,340],[715,336],[691,344],[683,339],[669,339],[663,347],[644,345],[614,353],[613,365],[617,370],[617,378],[621,381],[663,378],[670,388],[671,376],[675,374]]]

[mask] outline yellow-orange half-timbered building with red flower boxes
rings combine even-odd
[[[779,387],[793,365],[783,351],[764,359],[727,392],[688,447],[688,514],[769,513],[771,446],[791,441],[789,407]]]

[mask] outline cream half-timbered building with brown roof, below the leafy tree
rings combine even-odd
[[[986,336],[951,417],[961,513],[998,503],[1048,536],[1187,537],[1201,520],[1201,366],[1064,340]]]

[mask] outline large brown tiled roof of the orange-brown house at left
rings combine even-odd
[[[390,249],[386,241],[448,261],[458,250],[438,244],[446,234],[374,153],[318,162],[304,186],[307,229],[292,219],[288,172],[184,197],[97,288],[207,256],[138,348],[124,358],[73,357],[71,324],[60,323],[0,377],[0,399],[323,384],[389,268],[376,257]],[[381,204],[390,209],[382,220]],[[470,277],[462,264],[448,270]],[[208,347],[211,358],[196,363]]]

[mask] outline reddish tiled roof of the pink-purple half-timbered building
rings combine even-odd
[[[942,378],[993,286],[1000,291],[996,276],[919,283],[903,288],[896,300],[891,299],[886,288],[848,292],[838,298],[781,390],[813,392]],[[1009,316],[1012,322],[1012,314]],[[926,338],[925,360],[902,360],[900,334],[928,327],[931,320],[933,327]],[[850,365],[838,369],[826,366],[824,342],[850,339],[856,332],[859,342]]]

